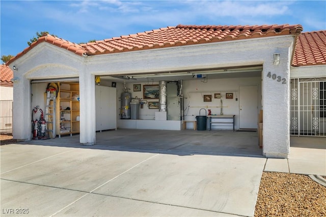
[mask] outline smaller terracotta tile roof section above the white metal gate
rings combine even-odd
[[[326,65],[326,30],[302,33],[297,39],[292,66]]]

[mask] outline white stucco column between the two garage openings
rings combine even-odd
[[[95,76],[87,72],[79,74],[80,143],[95,144]]]

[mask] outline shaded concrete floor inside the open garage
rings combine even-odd
[[[79,144],[79,135],[31,141],[65,146]],[[29,144],[31,144],[31,142]],[[137,148],[150,152],[180,151],[200,154],[262,156],[258,133],[232,130],[141,130],[118,129],[96,132],[96,146]],[[181,154],[181,153],[180,153]]]

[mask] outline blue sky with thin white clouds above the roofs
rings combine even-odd
[[[36,32],[71,42],[103,40],[178,24],[302,24],[326,29],[326,1],[0,1],[1,56]]]

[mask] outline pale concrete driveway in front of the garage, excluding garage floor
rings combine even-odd
[[[1,146],[1,216],[253,216],[263,157]]]

